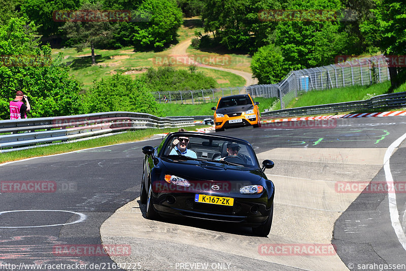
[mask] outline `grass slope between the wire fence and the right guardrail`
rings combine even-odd
[[[325,89],[301,93],[293,99],[286,108],[360,101],[369,94],[373,96],[388,93],[390,82],[373,84],[370,86],[350,86],[343,88]]]

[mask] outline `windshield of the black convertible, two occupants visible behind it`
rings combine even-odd
[[[209,134],[174,133],[165,139],[160,156],[173,160],[211,161],[250,169],[259,167],[254,150],[247,142]]]

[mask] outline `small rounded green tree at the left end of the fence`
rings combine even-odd
[[[252,56],[252,74],[260,84],[279,83],[289,72],[288,66],[283,59],[281,48],[274,44],[260,47]]]

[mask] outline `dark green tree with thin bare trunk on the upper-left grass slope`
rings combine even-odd
[[[78,52],[83,51],[86,47],[90,47],[92,65],[95,65],[94,47],[111,39],[116,28],[110,25],[108,19],[104,19],[100,15],[100,3],[84,4],[81,10],[85,11],[83,17],[79,17],[81,16],[79,14],[78,16],[73,16],[73,18],[81,18],[79,21],[77,19],[68,20],[60,29],[66,33],[67,38],[71,39]],[[93,12],[95,15],[93,15]]]

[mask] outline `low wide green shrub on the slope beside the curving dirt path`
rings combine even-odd
[[[149,68],[145,80],[151,91],[187,91],[189,89],[206,89],[217,86],[217,82],[201,72],[190,68],[186,70],[175,70],[172,67],[159,67],[157,70]]]

